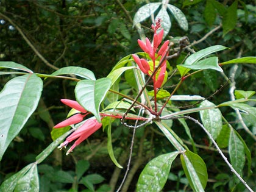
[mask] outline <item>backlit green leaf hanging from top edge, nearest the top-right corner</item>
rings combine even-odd
[[[227,8],[226,14],[222,20],[223,36],[226,35],[230,30],[233,30],[236,26],[237,21],[237,0],[233,2],[230,7]]]

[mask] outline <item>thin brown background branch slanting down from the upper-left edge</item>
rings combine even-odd
[[[12,24],[12,26],[15,27],[15,29],[18,30],[18,32],[21,34],[21,36],[24,38],[24,40],[25,40],[26,43],[30,46],[30,48],[33,49],[33,51],[35,52],[35,54],[37,54],[37,56],[38,56],[47,66],[49,66],[50,68],[55,69],[55,70],[59,69],[59,68],[57,68],[56,66],[52,65],[51,63],[49,63],[48,60],[46,60],[46,59],[43,57],[43,55],[40,54],[40,52],[39,52],[39,51],[35,48],[35,46],[29,41],[29,39],[26,37],[26,35],[23,33],[23,31],[21,30],[21,28],[20,28],[17,24],[13,23],[13,21],[12,21],[8,16],[2,14],[1,12],[0,12],[0,16],[2,16],[2,18],[4,18],[5,20],[9,21],[9,23]]]

